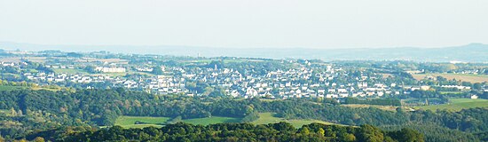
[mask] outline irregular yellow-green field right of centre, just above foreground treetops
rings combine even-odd
[[[260,113],[259,114],[259,119],[256,121],[252,122],[254,124],[267,124],[267,123],[276,123],[276,122],[289,122],[293,124],[296,128],[300,128],[305,124],[310,124],[312,122],[319,122],[319,123],[324,123],[324,124],[335,124],[332,122],[324,122],[324,121],[319,121],[319,120],[287,120],[284,118],[279,118],[274,116],[272,113]]]

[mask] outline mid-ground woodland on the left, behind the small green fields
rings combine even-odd
[[[258,118],[253,106],[235,101],[160,96],[122,88],[0,91],[0,100],[0,109],[16,112],[0,112],[0,134],[6,138],[59,126],[111,126],[121,115],[179,116],[183,119],[217,115],[240,117],[244,122]]]

